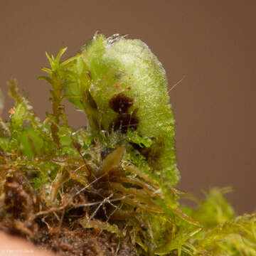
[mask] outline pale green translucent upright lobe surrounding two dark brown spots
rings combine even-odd
[[[119,116],[110,108],[113,97],[122,94],[133,100],[127,112],[138,120],[136,135],[151,142],[142,154],[167,193],[180,178],[174,147],[175,120],[166,72],[148,46],[139,39],[97,35],[84,47],[70,73],[65,96],[85,110],[92,130],[111,133],[112,122]],[[132,124],[130,127],[128,134],[134,130]]]

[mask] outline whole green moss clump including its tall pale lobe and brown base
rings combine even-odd
[[[146,44],[96,35],[61,62],[65,50],[46,54],[50,68],[40,79],[52,85],[52,113],[45,120],[10,82],[16,103],[9,121],[0,119],[0,229],[36,243],[67,228],[74,240],[81,228],[114,234],[134,248],[123,255],[256,255],[256,215],[235,216],[225,190],[210,190],[197,208],[180,206],[189,196],[174,188],[180,175],[166,74]],[[87,127],[68,124],[64,98],[85,112]],[[75,255],[72,243],[70,254],[54,241],[45,246]]]

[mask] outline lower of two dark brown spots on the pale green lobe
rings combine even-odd
[[[132,113],[119,114],[110,124],[110,132],[119,131],[125,134],[128,129],[137,129],[139,126],[139,119],[136,116],[137,110]]]

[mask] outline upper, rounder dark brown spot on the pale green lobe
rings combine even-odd
[[[119,114],[126,113],[129,107],[133,104],[133,100],[130,97],[125,96],[122,93],[112,97],[110,100],[110,107],[114,112]]]

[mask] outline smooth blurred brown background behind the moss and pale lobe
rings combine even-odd
[[[97,29],[141,38],[163,63],[176,115],[179,188],[233,186],[238,213],[256,210],[256,1],[83,0],[0,2],[0,86],[14,75],[35,112],[50,112],[36,78],[45,52],[74,55]],[[12,106],[5,97],[4,117]],[[85,116],[68,105],[74,127]]]

